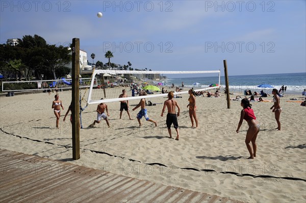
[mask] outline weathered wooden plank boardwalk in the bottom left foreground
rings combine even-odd
[[[0,202],[240,202],[0,149]]]

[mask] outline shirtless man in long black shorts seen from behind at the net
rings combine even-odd
[[[179,124],[177,123],[177,117],[176,116],[180,116],[180,107],[177,104],[177,102],[175,100],[173,100],[173,92],[169,92],[168,93],[168,100],[165,100],[164,102],[164,107],[162,110],[162,114],[161,116],[164,115],[166,106],[168,109],[168,114],[167,114],[167,119],[166,119],[166,124],[167,124],[167,128],[168,128],[168,132],[169,132],[169,138],[172,138],[172,134],[171,134],[171,124],[173,123],[174,125],[174,129],[176,131],[176,138],[175,140],[179,140]],[[177,114],[175,113],[175,106],[177,107]]]

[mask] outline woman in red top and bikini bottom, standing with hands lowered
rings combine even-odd
[[[243,110],[241,110],[240,120],[236,130],[236,132],[239,133],[240,126],[243,122],[243,119],[245,119],[249,126],[249,129],[247,130],[245,137],[245,144],[247,150],[250,153],[250,157],[248,159],[254,159],[254,157],[256,157],[256,151],[257,151],[256,138],[260,130],[260,124],[256,120],[256,117],[254,115],[253,110],[251,109],[251,106],[252,105],[250,105],[250,102],[247,98],[241,100],[241,107],[243,108]],[[250,144],[250,142],[252,144]]]

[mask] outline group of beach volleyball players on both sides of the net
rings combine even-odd
[[[190,120],[191,120],[191,127],[192,128],[198,128],[198,120],[197,120],[197,117],[196,117],[196,98],[195,98],[195,95],[194,95],[194,91],[192,89],[190,89],[188,91],[189,93],[189,98],[188,98],[188,102],[189,104],[187,105],[187,108],[189,108],[189,117],[190,117]],[[272,110],[272,112],[274,113],[275,115],[275,120],[277,122],[277,128],[275,130],[281,130],[281,122],[279,121],[279,117],[281,115],[281,112],[282,112],[282,108],[281,106],[279,105],[279,102],[280,102],[280,99],[279,99],[279,96],[278,96],[278,91],[277,89],[273,89],[272,90],[272,94],[273,94],[273,106],[270,108]],[[145,91],[141,91],[140,96],[145,96],[147,95],[147,93]],[[127,94],[126,94],[126,90],[122,90],[122,94],[119,95],[119,98],[125,98],[127,97]],[[167,113],[167,118],[166,118],[166,125],[167,125],[167,129],[168,129],[168,133],[169,133],[169,138],[172,138],[172,132],[171,132],[171,125],[173,124],[173,127],[176,131],[176,138],[175,140],[179,140],[179,124],[177,122],[177,117],[180,116],[180,106],[179,104],[176,102],[176,100],[174,100],[174,93],[173,91],[170,91],[168,92],[168,95],[167,95],[168,99],[165,100],[164,102],[164,106],[163,106],[163,109],[162,109],[162,113],[161,113],[161,116],[163,117],[164,115],[164,112],[167,108],[168,110],[168,113]],[[103,98],[101,98],[103,99]],[[247,133],[246,133],[246,137],[245,137],[245,144],[246,144],[246,147],[248,149],[248,152],[250,154],[250,157],[248,159],[254,159],[254,157],[256,157],[256,151],[257,151],[257,144],[256,144],[256,139],[257,139],[257,135],[260,131],[260,124],[259,122],[256,120],[256,116],[253,112],[253,110],[251,109],[251,104],[250,104],[250,100],[248,98],[243,98],[241,99],[241,107],[243,108],[241,110],[241,114],[240,114],[240,120],[239,120],[239,123],[238,123],[238,127],[237,127],[237,130],[236,132],[239,133],[239,129],[242,125],[242,122],[243,120],[246,120],[249,128],[247,130]],[[150,119],[148,117],[148,114],[147,114],[147,109],[145,108],[146,107],[146,101],[145,101],[145,98],[141,98],[140,99],[140,102],[139,104],[133,108],[133,111],[135,111],[136,109],[138,109],[140,107],[140,111],[138,112],[136,118],[139,122],[139,126],[141,126],[141,118],[144,117],[146,121],[150,121],[152,123],[155,124],[155,126],[157,126],[157,122]],[[55,100],[53,101],[52,103],[52,108],[54,109],[54,114],[56,115],[56,127],[59,128],[59,120],[60,120],[60,116],[61,116],[61,110],[60,108],[62,108],[62,110],[64,110],[64,107],[63,107],[63,103],[62,101],[59,99],[59,95],[56,94],[55,95]],[[176,113],[176,108],[177,108],[177,113]],[[67,114],[69,113],[69,111],[71,110],[71,104],[65,114],[65,117],[64,117],[64,121],[66,119],[66,116]],[[129,100],[121,100],[120,101],[120,119],[122,117],[122,112],[123,110],[126,111],[127,115],[129,116],[130,120],[133,120],[131,118],[131,115],[130,115],[130,112],[129,112]],[[106,113],[105,113],[106,111]],[[97,106],[97,119],[94,120],[94,122],[92,124],[90,124],[89,126],[92,127],[95,125],[95,123],[100,123],[101,119],[103,118],[107,125],[110,127],[110,123],[109,123],[109,120],[108,120],[108,116],[109,115],[109,112],[108,112],[108,107],[105,103],[100,103],[98,106]],[[70,116],[70,121],[72,122],[72,118]]]

